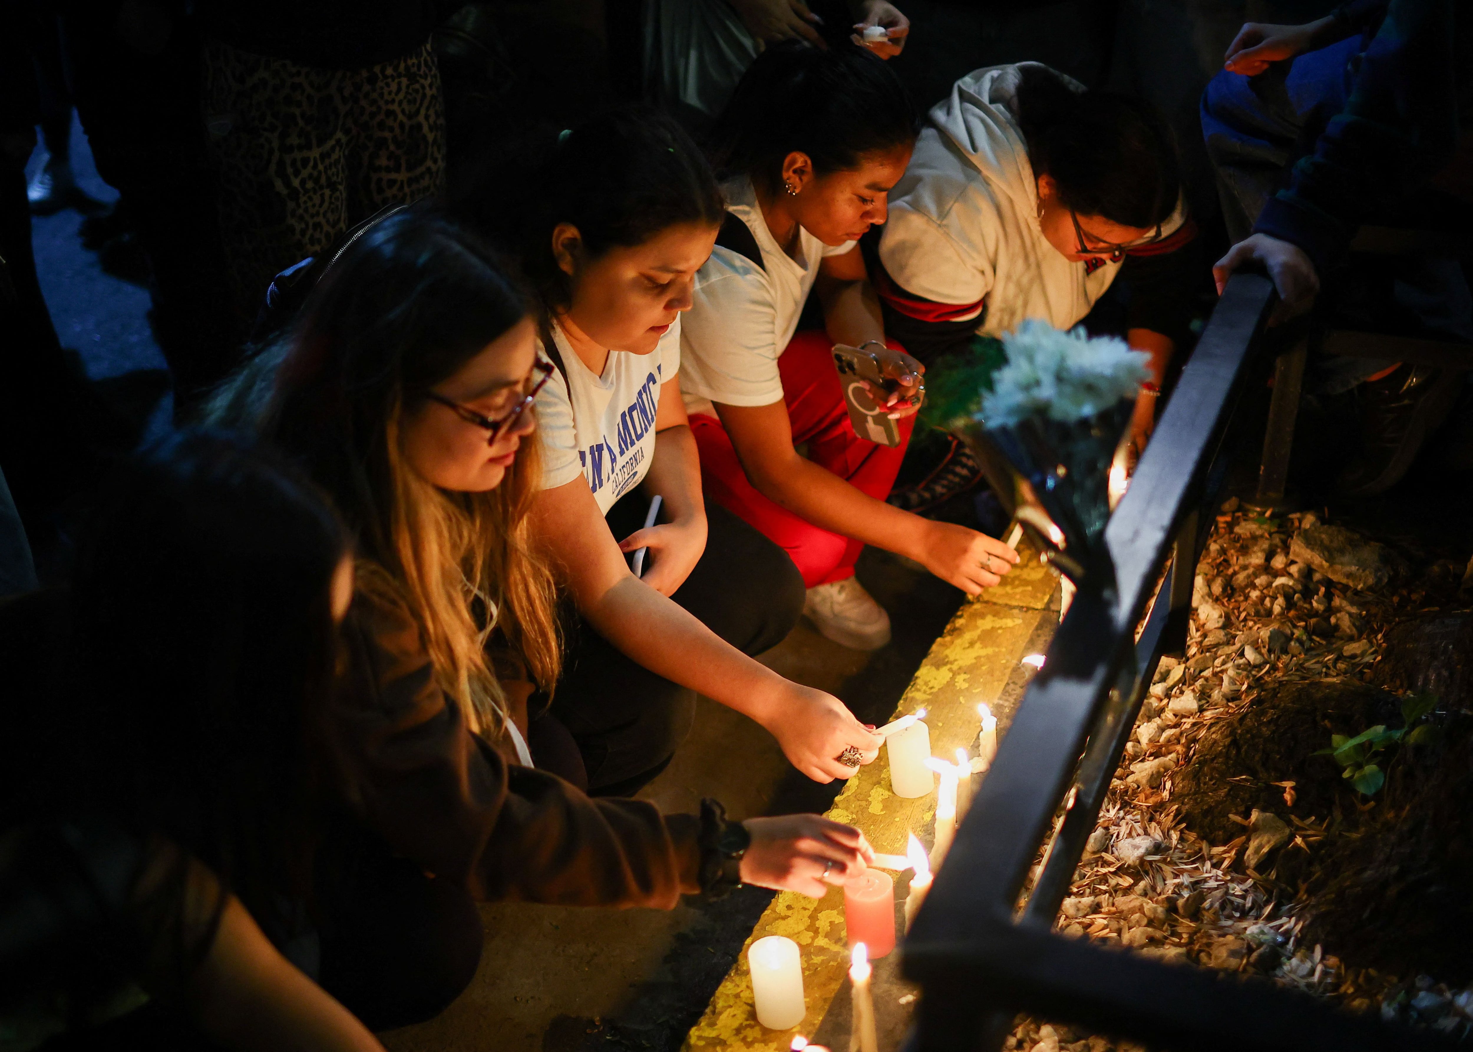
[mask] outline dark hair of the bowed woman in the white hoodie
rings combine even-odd
[[[1037,63],[1021,68],[1018,122],[1036,175],[1052,175],[1078,215],[1153,227],[1175,211],[1175,138],[1149,103],[1114,91],[1075,91]]]

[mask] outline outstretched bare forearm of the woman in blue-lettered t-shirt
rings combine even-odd
[[[626,578],[579,611],[636,664],[766,723],[784,679],[658,592]]]

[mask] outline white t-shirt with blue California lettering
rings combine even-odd
[[[681,368],[681,318],[650,354],[610,351],[602,376],[583,364],[557,323],[552,340],[563,370],[538,392],[542,488],[557,489],[582,473],[608,514],[650,471],[660,385]],[[541,343],[538,351],[551,358]]]

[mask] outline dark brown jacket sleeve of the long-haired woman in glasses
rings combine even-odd
[[[508,762],[432,676],[408,610],[359,592],[334,737],[368,825],[477,899],[658,906],[700,891],[701,819]]]

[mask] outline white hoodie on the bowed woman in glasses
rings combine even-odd
[[[879,239],[879,261],[896,284],[935,304],[975,305],[952,320],[985,309],[977,332],[987,336],[1027,318],[1077,324],[1121,268],[1105,256],[1066,259],[1038,228],[1038,187],[1016,113],[1030,65],[1037,63],[978,69],[931,109]],[[1178,206],[1162,236],[1181,221]]]

